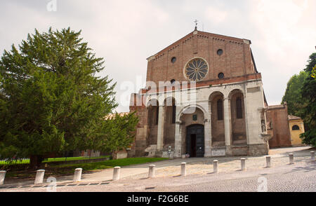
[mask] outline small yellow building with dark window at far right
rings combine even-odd
[[[303,146],[300,135],[305,132],[302,118],[298,116],[289,115],[289,130],[291,132],[291,145]]]

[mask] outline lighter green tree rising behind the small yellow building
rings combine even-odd
[[[305,78],[308,74],[305,71],[301,71],[300,74],[292,76],[287,83],[287,90],[282,98],[282,104],[287,102],[289,114],[294,116],[302,115],[303,99],[301,98],[301,92]]]

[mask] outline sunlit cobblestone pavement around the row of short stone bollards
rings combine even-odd
[[[271,157],[265,168],[265,157],[248,157],[246,171],[240,170],[240,157],[218,158],[218,173],[213,174],[213,159],[202,158],[187,164],[187,176],[179,177],[178,165],[162,167],[154,179],[147,172],[124,177],[119,181],[71,182],[58,184],[57,191],[257,191],[258,178],[265,177],[268,191],[316,191],[316,163],[310,160],[310,150],[282,149]],[[294,152],[295,164],[289,165],[288,153]],[[36,187],[2,188],[1,191],[46,191]]]

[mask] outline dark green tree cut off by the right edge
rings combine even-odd
[[[308,126],[306,132],[301,134],[303,143],[316,146],[316,79],[312,77],[312,68],[316,65],[316,53],[310,55],[305,72],[308,77],[305,78],[301,97],[305,102],[303,107],[303,120]]]

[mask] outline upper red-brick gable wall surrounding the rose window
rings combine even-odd
[[[225,78],[254,74],[250,41],[206,32],[193,32],[176,43],[148,58],[147,81],[187,81],[183,69],[188,61],[202,57],[209,64],[209,73],[203,81],[218,79],[223,72]],[[223,50],[218,55],[218,49]],[[176,62],[171,62],[176,57]]]

